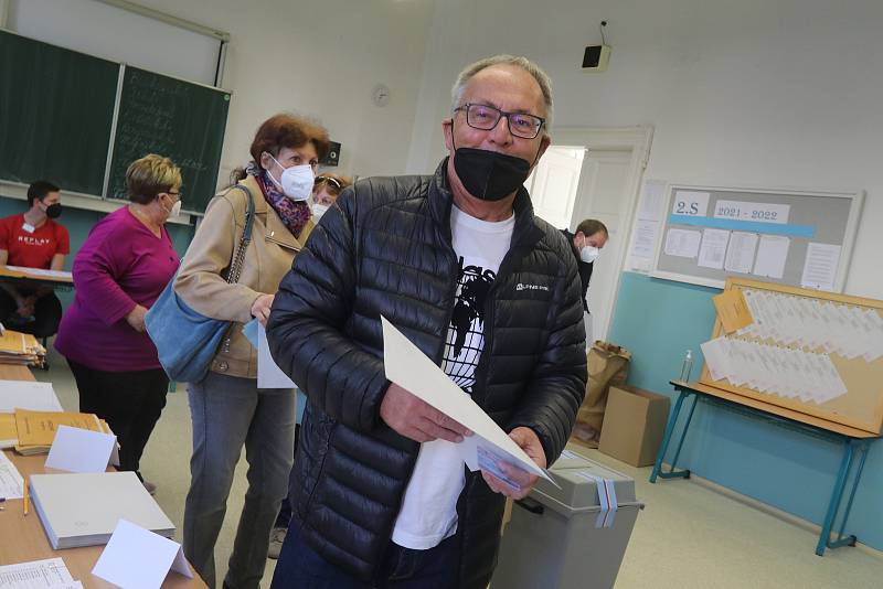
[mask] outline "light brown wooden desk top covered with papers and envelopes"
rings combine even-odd
[[[34,381],[33,374],[25,366],[12,366],[0,364],[0,378]],[[45,456],[22,457],[13,451],[6,451],[9,458],[22,476],[47,472],[43,464]],[[75,580],[82,581],[85,588],[115,588],[104,579],[92,575],[92,568],[97,563],[98,557],[104,550],[104,546],[87,546],[85,548],[65,548],[53,550],[43,531],[43,524],[34,510],[33,502],[28,515],[22,513],[23,502],[21,500],[10,500],[3,503],[6,511],[0,512],[0,565],[11,565],[26,563],[30,560],[41,560],[43,558],[61,557]],[[191,567],[191,570],[193,568]],[[193,578],[177,572],[170,572],[162,583],[166,589],[196,589],[204,588],[206,585],[200,576],[193,571]]]

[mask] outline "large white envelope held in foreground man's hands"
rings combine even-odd
[[[385,317],[381,317],[381,321],[386,378],[474,432],[457,445],[469,470],[485,469],[507,480],[497,468],[497,462],[507,462],[555,484],[546,471],[538,467],[524,450],[472,400],[472,397],[454,384],[442,368],[426,357]]]

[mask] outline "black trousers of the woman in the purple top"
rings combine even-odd
[[[71,360],[71,372],[79,392],[79,411],[95,414],[110,426],[119,442],[119,470],[141,478],[141,454],[157,425],[169,378],[162,368],[150,371],[96,371]]]

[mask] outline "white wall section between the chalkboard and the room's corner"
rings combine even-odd
[[[138,0],[231,33],[224,87],[234,93],[222,176],[245,163],[257,126],[292,110],[343,144],[342,173],[402,173],[432,0]],[[383,108],[377,83],[391,89]]]

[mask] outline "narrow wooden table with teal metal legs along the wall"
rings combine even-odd
[[[864,461],[868,458],[868,448],[873,440],[880,438],[879,433],[871,433],[869,431],[844,426],[842,424],[828,421],[827,419],[801,414],[800,411],[796,411],[794,409],[788,409],[786,407],[780,407],[778,405],[773,405],[770,403],[765,403],[751,397],[736,395],[735,393],[702,383],[684,383],[681,381],[672,381],[671,384],[674,386],[674,389],[679,392],[679,396],[678,400],[674,403],[671,417],[669,417],[669,422],[666,426],[666,432],[662,436],[662,445],[660,446],[659,453],[656,457],[653,472],[650,474],[651,483],[655,483],[657,478],[690,478],[689,470],[675,470],[675,468],[678,465],[678,458],[681,454],[681,448],[683,448],[683,440],[687,437],[687,430],[690,427],[690,421],[693,419],[693,411],[695,410],[700,399],[724,405],[737,411],[748,414],[754,417],[760,417],[775,425],[842,445],[843,454],[840,460],[840,469],[834,481],[833,491],[831,492],[831,499],[828,502],[828,512],[825,516],[825,521],[822,522],[819,542],[816,545],[816,554],[823,556],[826,548],[839,548],[841,546],[855,545],[855,536],[843,536],[843,531],[847,527],[849,512],[852,508],[852,501],[855,497],[855,490],[859,488],[859,481],[861,480],[862,470],[864,469]],[[674,432],[674,426],[678,422],[678,417],[681,413],[681,406],[690,396],[694,396],[695,400],[693,401],[693,405],[690,408],[690,414],[687,417],[687,421],[681,429],[680,440],[678,441],[678,448],[674,451],[674,458],[671,461],[671,468],[668,472],[662,472],[662,461],[668,452],[669,442],[671,442],[671,437]],[[853,470],[857,457],[859,457],[859,464],[858,469],[855,470],[855,474],[853,475],[852,490],[849,493],[847,507],[843,511],[840,531],[837,539],[831,542],[831,529],[833,529],[834,520],[840,512],[843,492],[845,491],[847,481],[849,480],[850,473]]]

